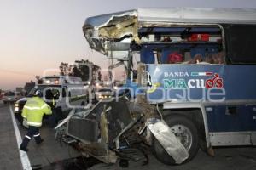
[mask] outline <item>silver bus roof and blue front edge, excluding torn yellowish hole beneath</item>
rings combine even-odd
[[[89,17],[84,27],[100,27],[114,16],[134,15],[138,22],[195,22],[256,24],[254,8],[137,8]]]

